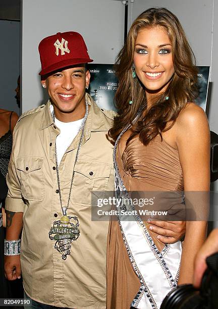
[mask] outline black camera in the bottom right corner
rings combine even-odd
[[[206,259],[200,289],[183,284],[167,294],[160,309],[216,309],[218,308],[218,252]]]

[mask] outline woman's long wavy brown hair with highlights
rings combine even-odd
[[[151,108],[146,109],[145,87],[132,77],[132,64],[138,31],[159,26],[167,31],[172,44],[175,73],[166,91],[156,96]],[[151,8],[140,14],[133,22],[126,42],[115,63],[119,86],[115,95],[118,116],[108,131],[108,139],[115,143],[120,132],[132,123],[139,109],[143,107],[140,121],[132,128],[129,138],[139,134],[140,141],[147,145],[158,134],[169,130],[179,113],[197,96],[197,69],[195,57],[178,18],[165,8]],[[166,100],[166,96],[169,99]],[[129,101],[132,100],[132,105]]]

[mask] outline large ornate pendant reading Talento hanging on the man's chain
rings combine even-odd
[[[65,212],[66,214],[66,212]],[[75,224],[70,220],[75,220]],[[61,220],[55,221],[48,233],[51,240],[56,240],[55,249],[62,254],[62,259],[66,260],[67,255],[71,253],[71,243],[77,240],[80,235],[79,220],[76,216],[71,217],[64,215]]]

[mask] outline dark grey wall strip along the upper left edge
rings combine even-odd
[[[0,108],[15,111],[20,109],[15,98],[15,88],[20,74],[20,22],[0,20],[1,29],[1,101]]]

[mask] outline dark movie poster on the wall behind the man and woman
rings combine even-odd
[[[205,111],[209,83],[209,67],[198,68],[199,96],[197,104]],[[89,64],[91,79],[87,92],[96,104],[106,110],[114,110],[114,96],[118,87],[118,80],[112,64]]]

